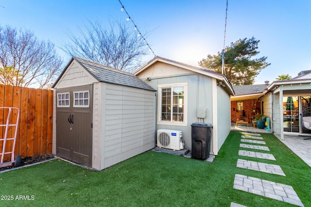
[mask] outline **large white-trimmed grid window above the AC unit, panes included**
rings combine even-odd
[[[185,124],[187,83],[159,85],[159,122]]]

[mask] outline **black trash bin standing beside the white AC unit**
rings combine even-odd
[[[205,123],[191,124],[191,157],[207,159],[209,157],[209,143],[213,126]]]

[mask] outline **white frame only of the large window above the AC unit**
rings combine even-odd
[[[184,87],[184,122],[172,122],[172,121],[162,121],[162,89],[173,87]],[[171,125],[171,126],[187,126],[187,115],[188,115],[188,82],[183,83],[173,83],[173,84],[162,84],[157,86],[158,92],[158,104],[157,104],[157,122],[159,125]],[[173,99],[172,99],[173,101]],[[171,116],[172,117],[172,116]]]

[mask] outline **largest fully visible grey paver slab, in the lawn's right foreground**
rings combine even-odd
[[[289,185],[236,174],[233,188],[304,207],[294,188]]]

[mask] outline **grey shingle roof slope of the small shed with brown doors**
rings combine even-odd
[[[75,56],[72,58],[79,62],[92,76],[94,76],[94,78],[100,82],[156,91],[150,85],[140,80],[132,73],[118,70],[102,64],[97,64]]]

